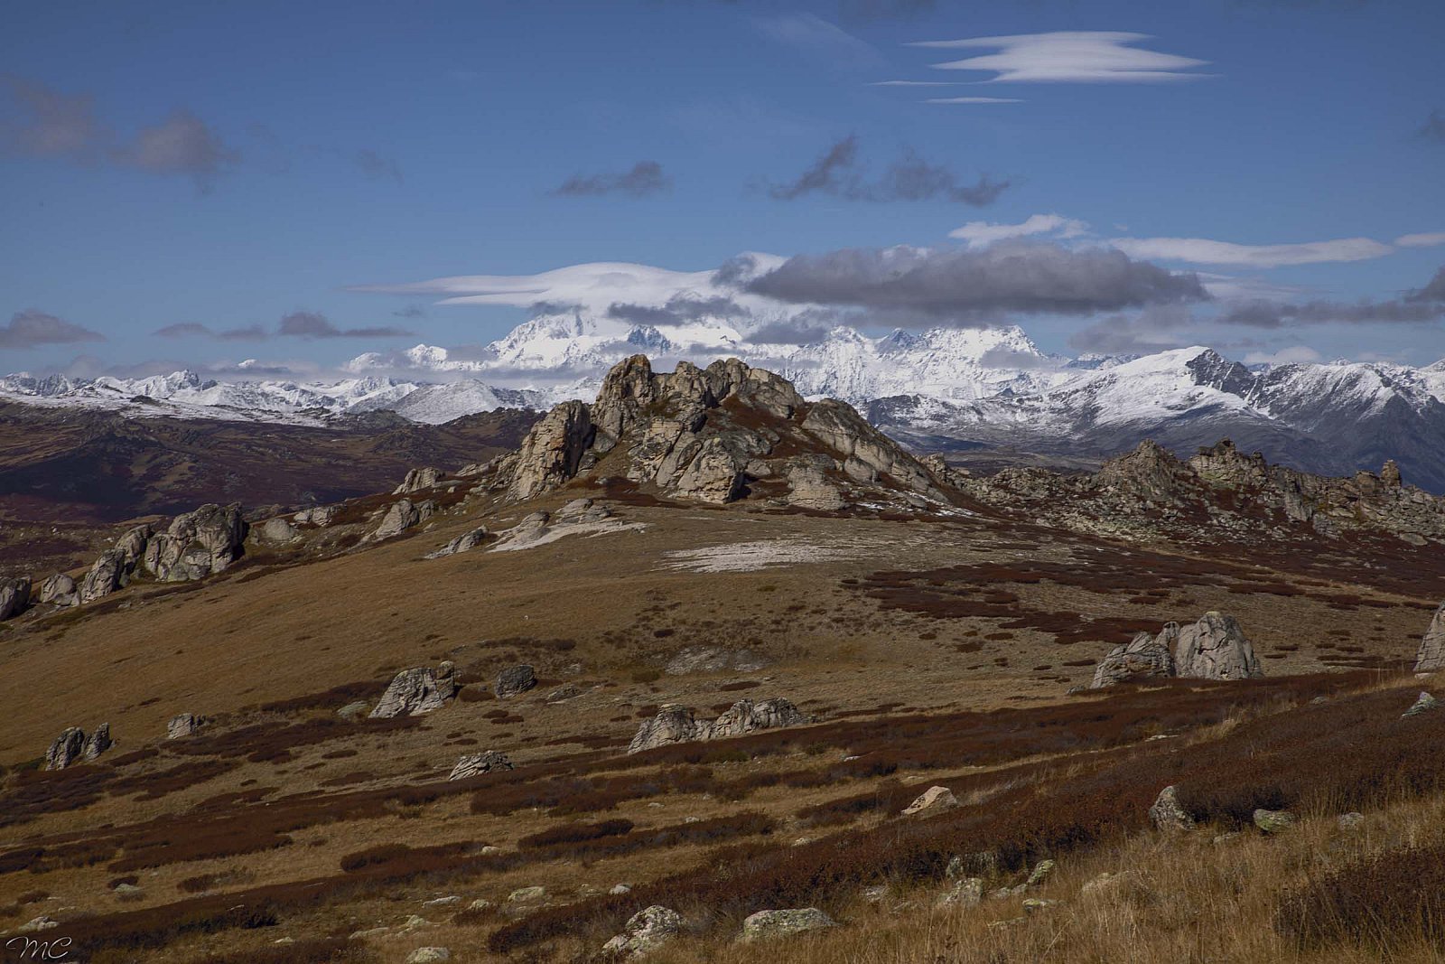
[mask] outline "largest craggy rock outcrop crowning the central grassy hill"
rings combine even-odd
[[[538,422],[499,471],[513,499],[594,473],[668,496],[728,503],[764,494],[832,510],[870,502],[946,503],[918,460],[850,406],[812,405],[770,371],[736,358],[670,374],[644,356],[618,363],[591,406],[569,402]]]

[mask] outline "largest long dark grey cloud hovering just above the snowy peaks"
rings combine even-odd
[[[1123,251],[1025,243],[802,254],[746,289],[792,304],[864,308],[896,324],[988,324],[1000,312],[1071,315],[1209,299],[1196,275]]]

